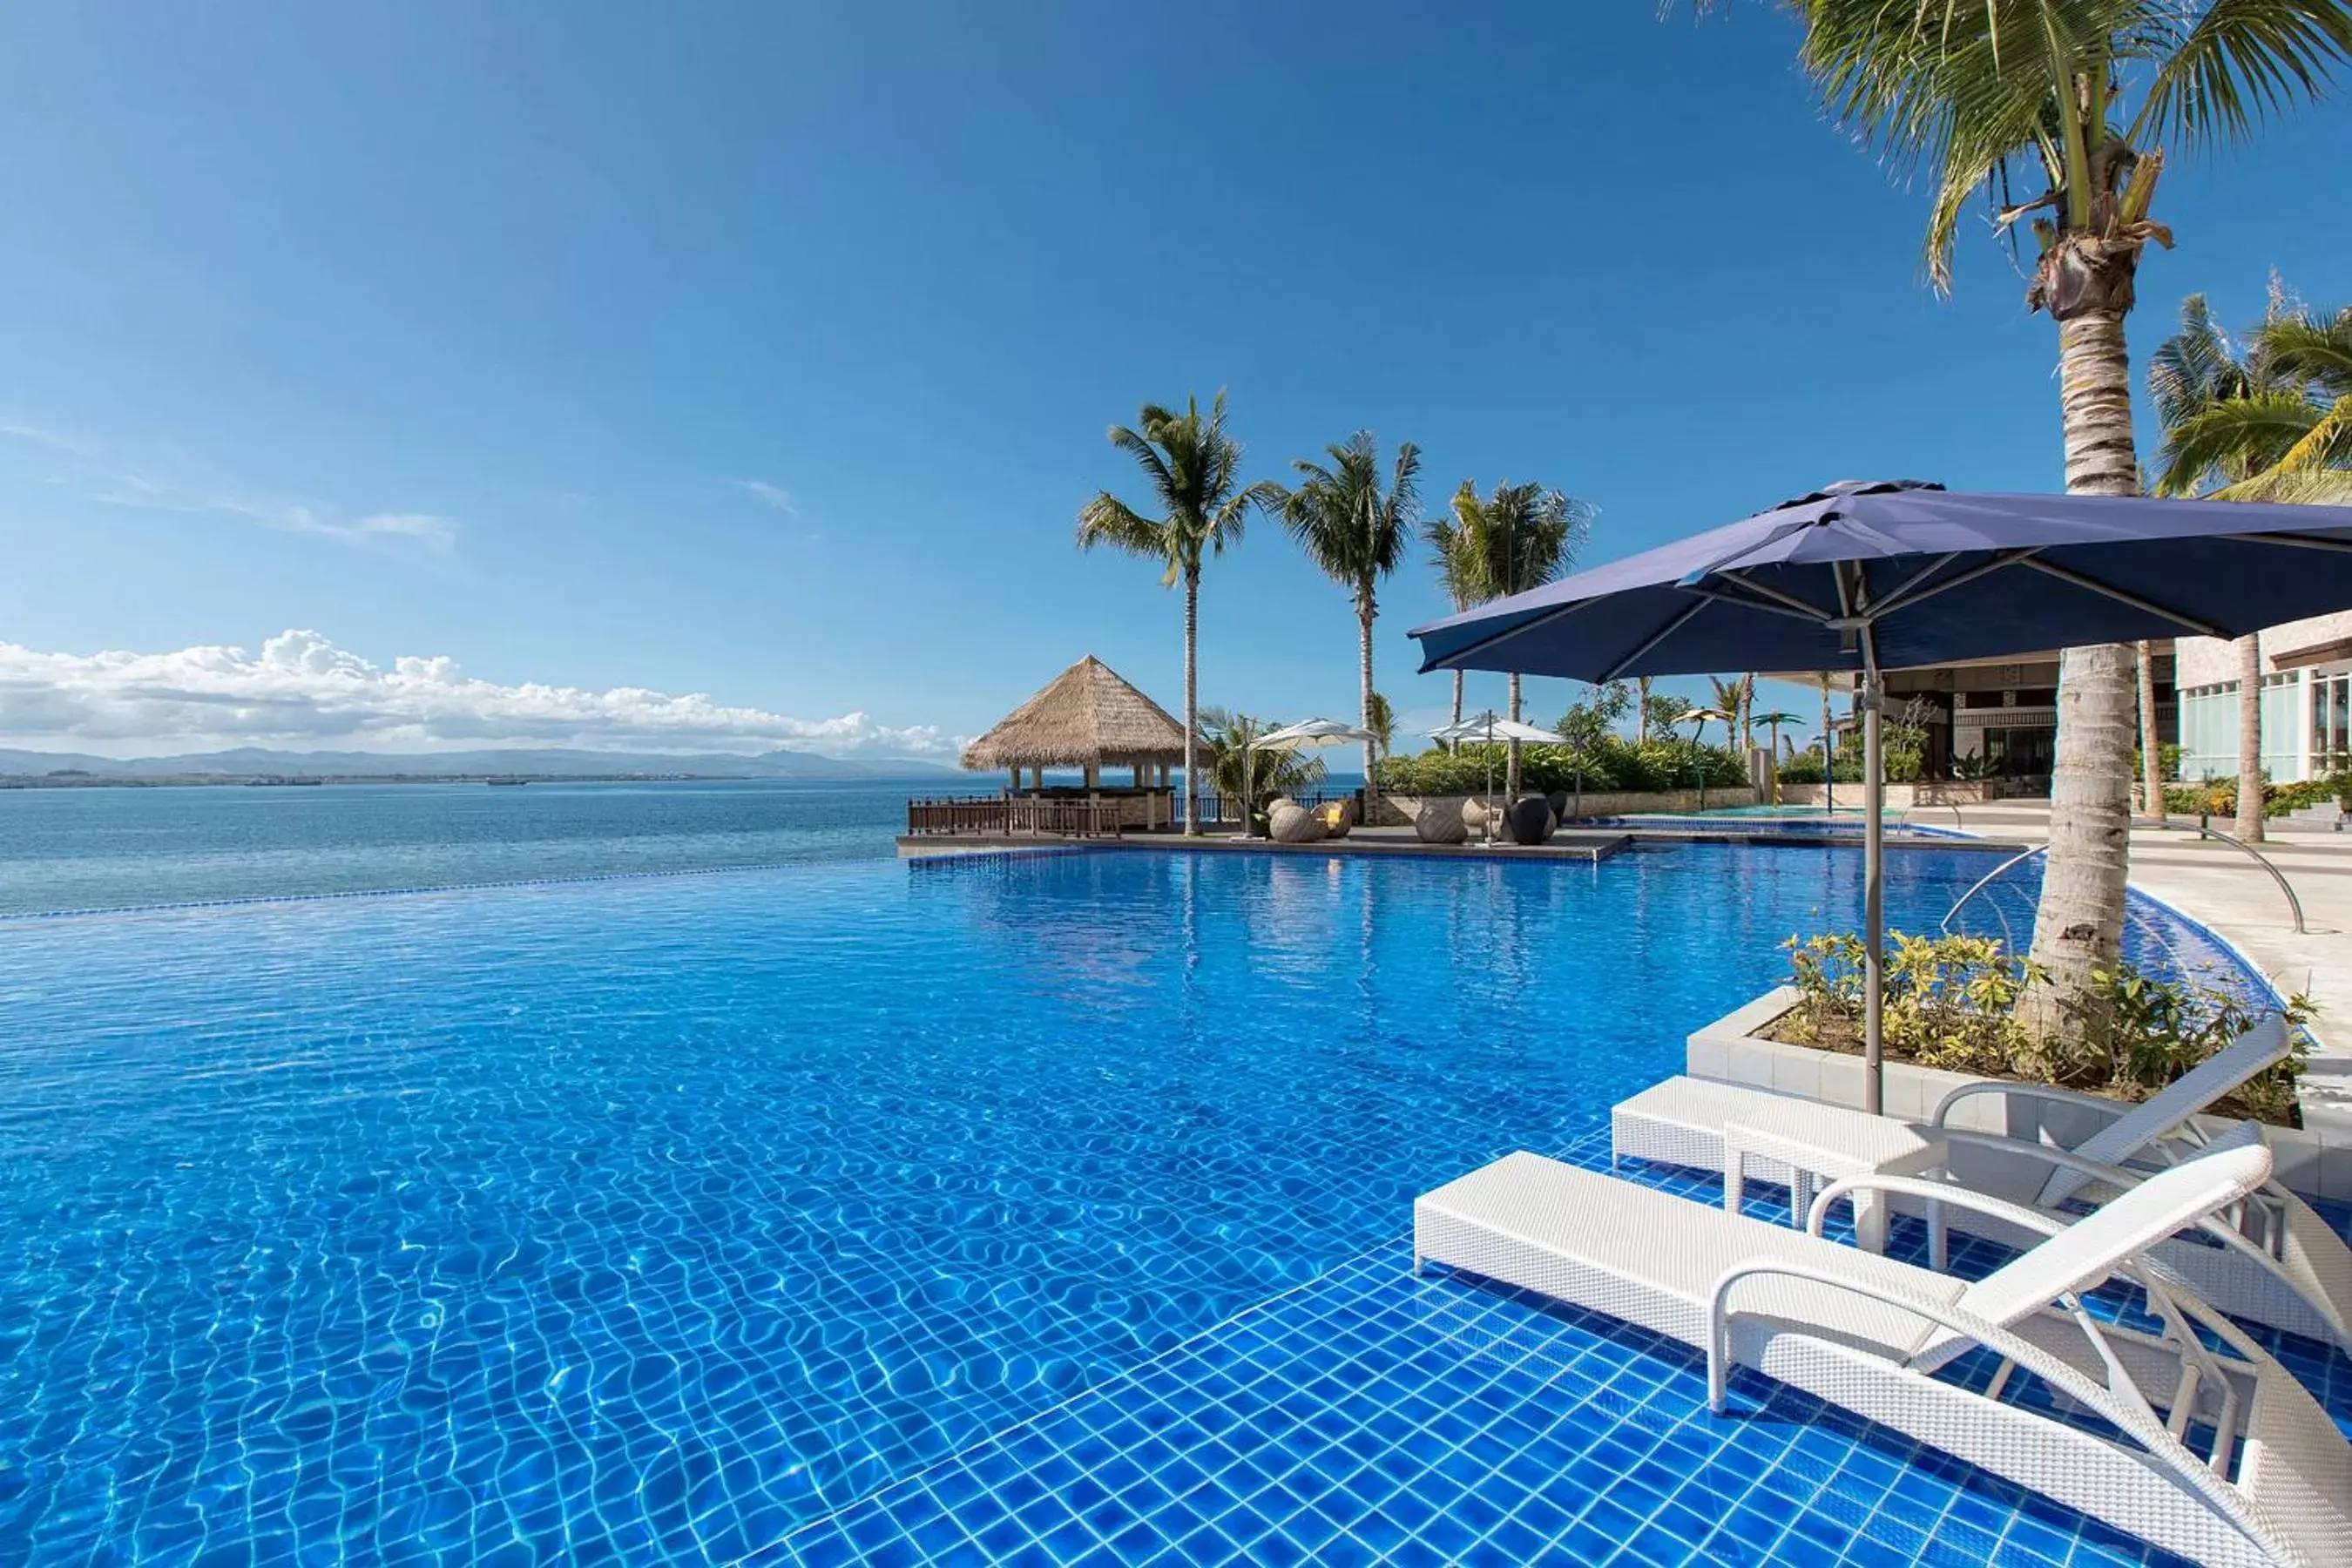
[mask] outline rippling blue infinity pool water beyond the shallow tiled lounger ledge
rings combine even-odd
[[[1980,870],[1891,858],[1896,924]],[[800,1552],[1237,1312],[1364,1321],[1416,1192],[1590,1143],[1856,903],[1689,844],[0,922],[0,1559]]]

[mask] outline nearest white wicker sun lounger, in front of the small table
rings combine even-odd
[[[2074,1225],[1945,1190],[1945,1204],[2044,1237],[1966,1284],[1820,1237],[1856,1187],[1936,1182],[1832,1182],[1797,1232],[1522,1152],[1414,1204],[1414,1267],[1449,1265],[1696,1345],[1717,1413],[1731,1366],[1750,1366],[2194,1561],[2343,1566],[2352,1443],[2244,1331],[2136,1265],[2265,1180],[2270,1150],[2216,1150]],[[2161,1335],[2082,1307],[2110,1274],[2138,1279]],[[1976,1347],[1999,1361],[1990,1382],[1936,1375]],[[2053,1399],[2004,1401],[2018,1371]]]

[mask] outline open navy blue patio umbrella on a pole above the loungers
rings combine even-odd
[[[2244,637],[2352,609],[2352,508],[1947,491],[1846,480],[1414,628],[1421,670],[1611,682],[1863,677],[1863,1051],[1879,1110],[1879,672],[2143,637]]]

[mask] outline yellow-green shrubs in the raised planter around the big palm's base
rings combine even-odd
[[[1780,1037],[1858,1051],[1863,1037],[1863,938],[1788,938],[1797,1006]],[[2016,1016],[2037,976],[2032,959],[1983,936],[1886,933],[1886,1056],[2027,1084],[2065,1084],[2140,1100],[2171,1084],[2260,1018],[2239,997],[2194,980],[2159,980],[2131,964],[2098,971],[2100,994],[2079,1009],[2084,1044],[2042,1039]],[[2293,1056],[2223,1100],[2223,1114],[2291,1124],[2307,997],[2288,997]]]

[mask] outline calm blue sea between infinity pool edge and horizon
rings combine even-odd
[[[0,790],[0,914],[889,858],[955,778]]]

